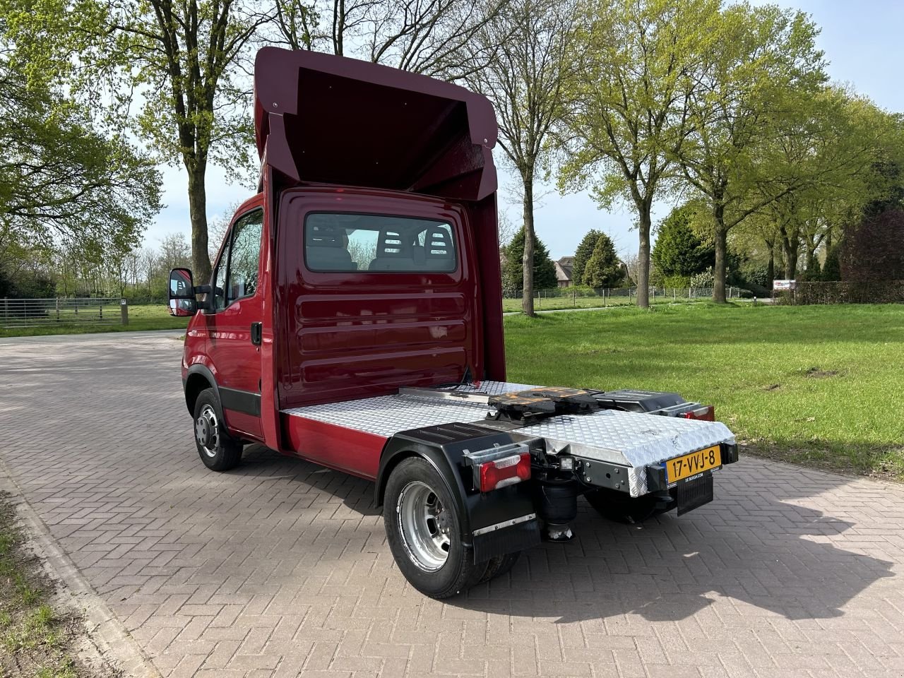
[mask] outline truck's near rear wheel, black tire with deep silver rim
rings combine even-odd
[[[462,541],[457,506],[424,459],[410,457],[392,469],[383,506],[386,539],[405,579],[430,598],[470,589],[486,571],[486,563],[475,564],[473,550]]]

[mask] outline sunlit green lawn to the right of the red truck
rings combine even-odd
[[[904,306],[515,315],[505,333],[510,381],[677,391],[750,451],[904,480]]]

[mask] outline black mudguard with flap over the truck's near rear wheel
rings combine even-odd
[[[442,424],[401,431],[383,447],[377,472],[376,504],[383,504],[392,468],[407,457],[422,457],[437,469],[452,496],[456,497],[461,516],[461,537],[466,546],[474,549],[476,562],[530,548],[540,543],[537,518],[508,525],[505,523],[536,513],[531,481],[481,494],[479,488],[474,487],[471,468],[463,464],[467,452],[513,442],[507,433],[475,424]],[[482,531],[482,528],[494,525],[500,527]]]

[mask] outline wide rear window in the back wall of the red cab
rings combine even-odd
[[[305,264],[324,273],[451,273],[457,268],[455,230],[447,221],[311,212]]]

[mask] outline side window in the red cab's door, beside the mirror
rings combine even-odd
[[[255,210],[232,224],[222,255],[213,271],[213,309],[221,311],[258,288],[260,237],[264,213]]]

